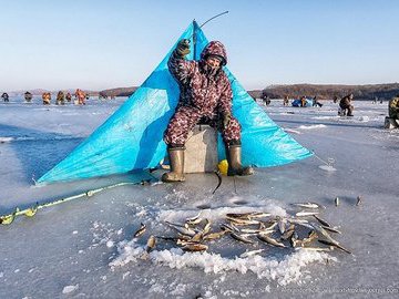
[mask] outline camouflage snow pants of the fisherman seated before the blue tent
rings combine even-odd
[[[172,147],[184,146],[187,141],[190,131],[192,131],[200,121],[204,121],[204,123],[221,131],[225,144],[241,141],[241,125],[233,116],[227,127],[224,128],[222,125],[219,125],[219,118],[203,117],[203,115],[195,109],[181,106],[172,116],[164,133],[165,143]]]

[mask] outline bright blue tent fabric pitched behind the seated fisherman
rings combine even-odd
[[[188,60],[194,55],[198,60],[208,43],[196,22],[190,24],[176,43],[181,39],[192,40]],[[166,155],[163,133],[180,95],[178,85],[167,69],[176,43],[134,94],[72,153],[40,177],[38,184],[121,174],[160,164]],[[267,116],[227,68],[224,70],[232,82],[233,115],[242,125],[245,164],[277,166],[311,155]],[[218,154],[221,159],[225,157],[221,137]]]

